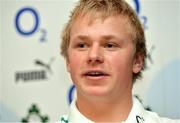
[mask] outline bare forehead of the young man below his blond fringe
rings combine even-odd
[[[106,18],[95,17],[91,15],[79,16],[71,27],[71,36],[78,33],[88,33],[96,31],[98,34],[114,34],[128,35],[132,37],[132,27],[127,17],[122,15],[109,16]]]

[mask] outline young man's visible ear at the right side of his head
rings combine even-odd
[[[143,68],[143,56],[141,54],[136,54],[133,61],[133,73],[138,73]]]

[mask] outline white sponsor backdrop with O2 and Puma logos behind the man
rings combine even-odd
[[[60,32],[76,0],[0,1],[0,122],[54,122],[75,96]],[[180,1],[128,0],[146,33],[148,69],[134,85],[145,107],[180,118]]]

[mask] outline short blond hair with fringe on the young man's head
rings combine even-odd
[[[102,18],[103,20],[110,16],[124,16],[130,23],[133,29],[133,41],[136,46],[135,57],[141,55],[143,58],[143,70],[146,67],[146,44],[144,30],[138,19],[135,11],[125,2],[125,0],[80,0],[71,13],[68,23],[62,32],[61,55],[68,58],[68,47],[70,42],[70,31],[73,23],[78,17],[88,15],[93,20],[94,18]],[[141,77],[139,73],[133,73],[133,82]]]

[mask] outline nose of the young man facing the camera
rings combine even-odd
[[[97,64],[103,63],[103,51],[99,44],[93,44],[89,49],[88,53],[88,63],[90,64]]]

